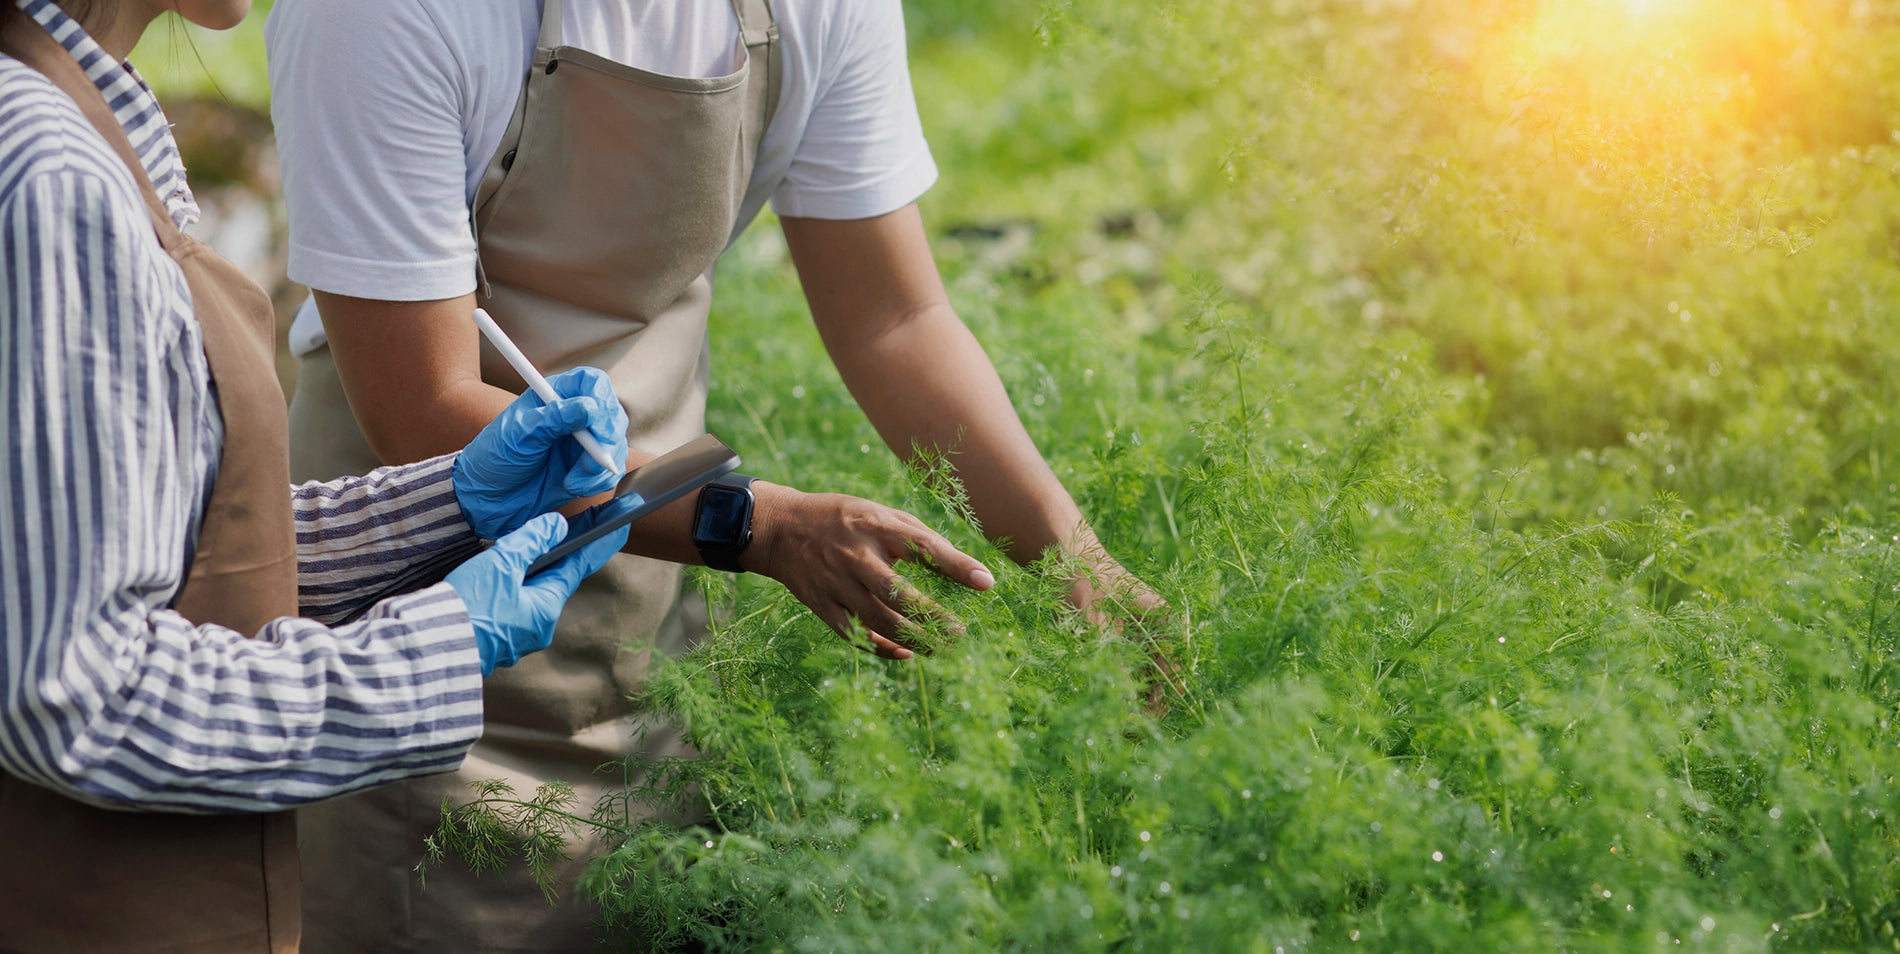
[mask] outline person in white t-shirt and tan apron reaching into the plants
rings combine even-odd
[[[300,477],[460,447],[505,407],[519,386],[477,350],[477,304],[543,371],[585,359],[636,395],[631,464],[697,433],[711,264],[771,201],[825,346],[885,443],[956,448],[1013,559],[1081,561],[1077,606],[1161,604],[1089,530],[944,295],[916,209],[937,167],[899,0],[277,0],[266,40],[289,272],[315,293],[291,331]],[[587,783],[627,751],[621,699],[644,656],[618,644],[678,652],[697,631],[676,570],[656,561],[771,576],[893,659],[910,656],[914,620],[940,612],[899,561],[992,582],[868,500],[766,481],[720,494],[635,526],[623,589],[570,602],[610,635],[578,621],[538,667],[492,684],[494,749],[462,777]],[[612,701],[566,711],[576,697]],[[414,889],[443,794],[466,791],[306,815],[308,950],[585,950],[587,908],[547,910],[522,878],[446,870]],[[378,840],[393,853],[370,857]]]

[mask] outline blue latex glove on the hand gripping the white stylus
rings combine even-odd
[[[534,391],[517,397],[456,458],[456,500],[483,540],[619,481],[572,437],[585,428],[610,456],[627,460],[627,412],[606,372],[578,367],[547,384],[560,401],[545,405]]]

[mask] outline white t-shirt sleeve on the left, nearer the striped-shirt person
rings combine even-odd
[[[266,25],[291,279],[380,300],[475,289],[467,84],[416,0],[279,0]]]

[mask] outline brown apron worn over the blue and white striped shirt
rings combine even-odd
[[[198,551],[173,608],[256,633],[296,616],[289,431],[264,289],[179,232],[72,55],[28,17],[0,49],[63,89],[125,160],[192,289],[224,416]],[[0,952],[285,954],[298,943],[296,827],[266,815],[104,811],[0,773]]]

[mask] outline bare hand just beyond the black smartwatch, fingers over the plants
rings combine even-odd
[[[861,633],[870,642],[859,646],[885,659],[912,658],[931,623],[963,631],[954,614],[904,582],[899,563],[918,563],[971,589],[996,585],[982,563],[901,509],[764,481],[754,494],[752,545],[739,564],[785,583],[840,637]]]

